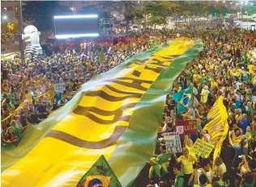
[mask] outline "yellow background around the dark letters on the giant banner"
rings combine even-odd
[[[170,44],[169,48],[164,48],[153,54],[156,59],[169,66],[171,60],[166,60],[170,56],[179,56],[186,52],[188,48],[193,47],[193,40],[188,38],[178,38]],[[152,72],[145,69],[145,66],[156,66],[156,61],[146,60],[143,64],[130,64],[126,69],[122,69],[119,73],[113,75],[113,78],[129,77],[145,81],[156,81],[160,73]],[[139,71],[139,77],[133,75],[134,70]],[[126,81],[126,80],[125,80]],[[126,81],[129,82],[129,81]],[[101,90],[113,97],[124,97],[126,94],[120,94],[109,89],[105,85],[110,85],[114,89],[135,92],[144,94],[147,90],[132,88],[128,85],[120,85],[115,82],[104,82],[102,85],[95,85],[90,91]],[[149,89],[150,83],[143,83],[143,87]],[[139,102],[140,98],[126,98],[125,100],[109,102],[99,96],[87,96],[85,94],[79,102],[79,106],[96,107],[100,110],[113,111],[131,103]],[[88,110],[87,114],[93,114]],[[123,110],[122,116],[132,115],[133,110]],[[113,115],[106,116],[94,114],[101,120],[112,120]],[[58,120],[58,119],[56,119]],[[113,134],[115,127],[128,127],[129,122],[117,121],[111,124],[100,124],[84,115],[70,112],[65,118],[62,118],[54,127],[53,131],[66,132],[84,141],[99,142],[104,139],[109,139]],[[118,144],[118,141],[117,141]],[[10,186],[26,186],[26,187],[41,187],[41,186],[76,186],[84,173],[87,172],[92,164],[98,160],[101,155],[104,155],[106,160],[113,155],[117,144],[109,145],[107,148],[89,149],[80,148],[65,141],[45,137],[41,139],[36,146],[28,152],[23,159],[13,164],[2,172],[1,185],[2,187]],[[126,163],[122,163],[122,167],[126,167]],[[193,172],[193,171],[192,171]]]

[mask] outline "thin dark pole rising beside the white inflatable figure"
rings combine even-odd
[[[21,34],[23,33],[23,19],[22,19],[22,2],[21,0],[19,0],[18,2],[18,6],[19,6],[19,17],[18,17],[18,23],[19,23],[19,51],[20,51],[20,58],[21,58],[21,62],[24,63],[25,62],[25,49],[24,49],[24,43],[23,43],[23,39],[21,37]]]

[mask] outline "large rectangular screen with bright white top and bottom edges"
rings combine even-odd
[[[58,15],[53,18],[57,39],[99,36],[99,21],[96,14]]]

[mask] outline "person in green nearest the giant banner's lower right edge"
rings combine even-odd
[[[149,168],[148,178],[151,181],[151,183],[155,184],[158,181],[160,181],[160,164],[157,164],[156,158],[152,157],[149,161],[149,164],[151,167]]]

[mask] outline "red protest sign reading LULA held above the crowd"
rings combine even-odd
[[[176,131],[179,135],[194,135],[197,133],[196,120],[181,120],[175,122]]]

